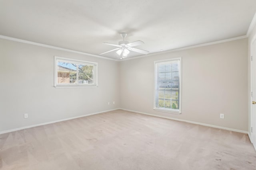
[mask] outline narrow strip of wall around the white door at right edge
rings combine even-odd
[[[248,35],[248,133],[251,135],[251,44],[256,38],[256,25]]]

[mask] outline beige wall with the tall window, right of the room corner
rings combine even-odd
[[[120,107],[248,131],[247,38],[120,63]],[[154,61],[182,57],[182,114],[153,109]],[[225,119],[220,119],[220,113]]]

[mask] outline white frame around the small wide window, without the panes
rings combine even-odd
[[[88,85],[88,84],[59,84],[58,83],[58,61],[63,61],[66,63],[74,63],[74,64],[88,64],[88,65],[94,65],[94,84]],[[78,74],[77,74],[78,76]],[[71,59],[66,57],[58,57],[54,56],[54,87],[55,88],[77,88],[77,87],[98,87],[98,63],[91,62],[91,61],[84,61],[84,60],[77,60],[77,59]]]

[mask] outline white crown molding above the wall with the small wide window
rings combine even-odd
[[[67,52],[70,52],[70,53],[77,53],[77,54],[88,55],[88,56],[92,56],[92,57],[98,57],[98,58],[106,59],[106,60],[119,61],[119,60],[111,59],[111,58],[108,58],[108,57],[103,57],[103,56],[94,55],[94,54],[90,54],[90,53],[84,53],[84,52],[81,52],[81,51],[75,51],[75,50],[70,50],[70,49],[64,49],[64,48],[55,47],[55,46],[52,46],[52,45],[46,45],[46,44],[41,44],[41,43],[35,43],[35,42],[32,42],[32,41],[26,41],[26,40],[23,40],[23,39],[18,39],[18,38],[13,38],[13,37],[7,37],[7,36],[4,36],[4,35],[0,35],[0,38],[2,38],[2,39],[7,39],[7,40],[11,40],[11,41],[16,41],[16,42],[20,42],[20,43],[26,43],[26,44],[37,45],[37,46],[40,46],[40,47],[47,47],[47,48],[50,48],[50,49],[56,49],[56,50],[61,50],[61,51],[67,51]]]

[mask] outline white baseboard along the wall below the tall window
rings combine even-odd
[[[209,124],[206,124],[206,123],[199,123],[199,122],[188,121],[188,120],[183,120],[183,119],[176,119],[176,118],[172,118],[172,117],[166,117],[166,116],[161,116],[161,115],[144,113],[144,112],[134,111],[134,110],[130,110],[130,109],[123,109],[123,108],[119,108],[119,109],[125,110],[125,111],[131,111],[131,112],[135,112],[135,113],[140,113],[140,114],[144,114],[144,115],[162,117],[162,118],[172,119],[172,120],[177,120],[177,121],[184,121],[184,122],[193,123],[193,124],[197,124],[197,125],[203,125],[203,126],[208,126],[208,127],[215,127],[215,128],[219,128],[219,129],[225,129],[225,130],[229,130],[229,131],[234,131],[234,132],[240,132],[240,133],[248,134],[248,131],[241,131],[241,130],[238,130],[238,129],[232,129],[232,128],[228,128],[228,127],[221,127],[221,126],[209,125]]]

